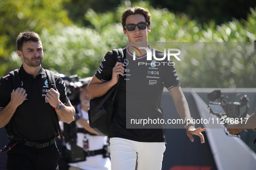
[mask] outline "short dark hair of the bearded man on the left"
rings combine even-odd
[[[27,41],[38,42],[41,41],[41,39],[36,32],[21,32],[16,40],[17,50],[22,51],[23,43]]]

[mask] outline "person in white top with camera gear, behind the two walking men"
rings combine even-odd
[[[80,81],[82,82],[79,95],[80,104],[75,107],[76,113],[74,115],[74,121],[76,126],[76,139],[72,139],[73,137],[70,136],[67,136],[69,139],[66,138],[67,133],[65,133],[66,126],[64,124],[63,135],[65,136],[67,149],[73,150],[71,151],[73,152],[73,154],[71,155],[77,156],[78,151],[80,151],[80,153],[84,153],[85,155],[85,161],[73,161],[73,163],[68,163],[68,165],[70,166],[68,170],[111,170],[110,158],[108,157],[110,152],[106,151],[106,147],[108,147],[107,136],[101,136],[97,134],[97,132],[95,132],[89,126],[87,110],[90,107],[91,98],[89,98],[87,95],[87,85],[91,81],[91,79],[92,77],[80,79]],[[61,125],[61,127],[63,126]],[[70,131],[70,129],[68,130]],[[75,146],[73,149],[72,142],[74,140],[76,141],[76,144],[74,145],[77,146]],[[73,158],[72,160],[75,159]]]

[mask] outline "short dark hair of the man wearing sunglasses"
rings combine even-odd
[[[121,16],[121,22],[122,22],[122,25],[123,25],[123,28],[125,26],[125,23],[126,23],[126,18],[130,15],[135,15],[135,14],[142,14],[145,19],[146,19],[146,22],[150,25],[151,24],[151,14],[149,13],[149,9],[145,9],[145,8],[142,8],[142,7],[133,7],[133,8],[129,8],[129,9],[126,9],[123,13],[122,13],[122,16]]]

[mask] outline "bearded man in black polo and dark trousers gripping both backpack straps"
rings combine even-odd
[[[57,89],[49,88],[50,80],[41,66],[43,47],[38,34],[20,33],[17,54],[22,59],[17,72],[21,87],[15,87],[10,74],[0,79],[0,128],[5,126],[10,139],[3,148],[8,154],[6,167],[58,170],[58,119],[71,123],[75,108],[59,76],[54,75]]]

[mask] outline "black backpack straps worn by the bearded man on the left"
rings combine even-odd
[[[49,88],[53,88],[53,89],[56,90],[57,88],[56,88],[55,79],[54,79],[54,72],[49,71],[48,69],[45,69],[45,72],[46,72],[47,79],[49,80],[49,83],[48,83]],[[21,79],[19,77],[19,70],[15,69],[14,71],[9,72],[9,74],[13,79],[14,89],[16,90],[16,88],[21,87]],[[55,119],[56,119],[56,122],[57,122],[59,135],[60,135],[61,139],[63,139],[62,131],[61,131],[61,128],[60,128],[59,123],[58,123],[57,113],[55,114]],[[7,128],[6,128],[7,135],[10,131],[11,124],[12,123],[11,123],[11,120],[10,120],[10,122],[8,123]]]

